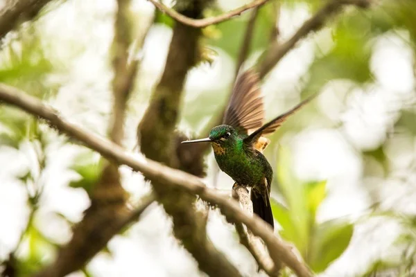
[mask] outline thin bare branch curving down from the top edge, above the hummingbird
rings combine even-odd
[[[268,0],[254,0],[251,3],[248,3],[244,6],[241,6],[240,8],[236,8],[235,10],[230,10],[229,12],[224,13],[223,15],[218,15],[217,17],[209,17],[204,19],[192,19],[190,17],[186,17],[184,15],[181,15],[179,12],[166,7],[163,3],[160,3],[156,0],[148,0],[155,5],[156,8],[161,10],[162,12],[165,12],[166,15],[172,17],[176,21],[192,26],[193,28],[204,28],[212,24],[218,24],[220,22],[226,21],[228,19],[231,19],[232,17],[235,17],[236,15],[241,15],[242,12],[245,10],[250,10],[250,8],[256,8],[263,3],[266,3]]]

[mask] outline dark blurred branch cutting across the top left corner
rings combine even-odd
[[[51,0],[9,0],[0,10],[0,38],[17,24],[33,19]]]

